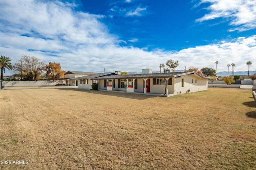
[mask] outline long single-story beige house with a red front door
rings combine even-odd
[[[149,70],[145,73],[145,70]],[[120,75],[114,72],[97,73],[77,78],[78,88],[91,89],[98,83],[98,90],[128,92],[152,96],[173,96],[208,89],[208,79],[196,72],[152,73],[145,69],[142,74]]]

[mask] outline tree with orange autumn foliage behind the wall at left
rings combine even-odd
[[[50,77],[52,80],[57,80],[64,77],[66,71],[61,70],[60,63],[50,62],[45,66],[46,76]]]

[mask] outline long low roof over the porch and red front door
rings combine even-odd
[[[179,77],[187,74],[196,74],[202,77],[196,72],[164,72],[164,73],[150,73],[150,74],[126,74],[126,75],[115,75],[115,76],[106,76],[106,77],[95,77],[91,79],[126,79],[126,78],[166,78],[166,77]]]

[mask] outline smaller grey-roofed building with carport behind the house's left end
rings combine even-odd
[[[82,71],[67,71],[64,75],[66,78],[60,80],[66,80],[66,86],[78,86],[78,77],[88,76],[95,74],[94,72],[82,72]]]

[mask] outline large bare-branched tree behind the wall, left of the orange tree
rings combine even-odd
[[[14,76],[24,77],[24,80],[36,80],[45,70],[45,63],[36,57],[22,55],[14,64]]]

